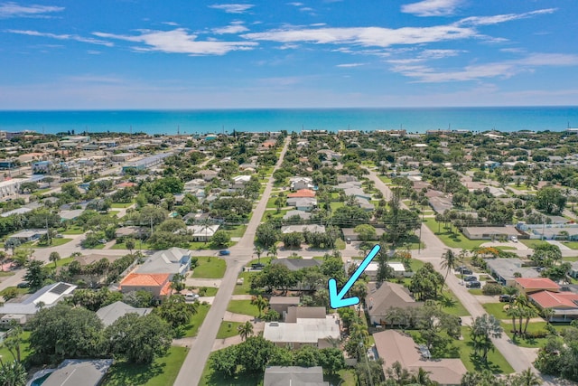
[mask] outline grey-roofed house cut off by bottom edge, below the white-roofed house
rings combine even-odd
[[[323,368],[271,366],[265,369],[263,386],[329,386],[323,381]]]

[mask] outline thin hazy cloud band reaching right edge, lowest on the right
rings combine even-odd
[[[448,81],[508,79],[522,72],[535,71],[536,67],[578,66],[578,55],[562,53],[533,53],[514,61],[497,61],[466,66],[455,71],[436,71],[423,65],[397,65],[393,71],[417,82],[440,83]]]

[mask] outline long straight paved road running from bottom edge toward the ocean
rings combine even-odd
[[[289,139],[290,138],[287,138],[285,141],[283,151],[275,165],[275,170],[283,162],[287,146],[289,145]],[[205,362],[209,359],[210,351],[217,337],[217,332],[219,331],[219,325],[225,316],[228,301],[237,284],[238,274],[243,266],[253,258],[253,241],[255,239],[256,227],[259,225],[265,213],[267,200],[269,200],[272,189],[273,179],[270,179],[266,184],[265,192],[261,200],[253,211],[251,221],[249,221],[247,226],[247,231],[245,231],[245,234],[237,245],[230,249],[231,255],[227,259],[227,270],[225,271],[225,277],[221,280],[219,292],[217,292],[213,305],[210,307],[209,313],[200,326],[199,334],[191,346],[191,351],[182,363],[181,371],[174,382],[175,386],[191,386],[200,383],[200,376],[205,367]]]

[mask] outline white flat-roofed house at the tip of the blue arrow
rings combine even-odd
[[[265,325],[263,337],[280,347],[292,349],[303,345],[332,347],[332,343],[340,339],[340,321],[332,314],[323,318],[297,318],[294,323],[271,322]]]

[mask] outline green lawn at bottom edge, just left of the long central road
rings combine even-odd
[[[163,358],[151,364],[129,364],[116,362],[110,367],[103,386],[164,386],[176,380],[188,349],[172,346]]]

